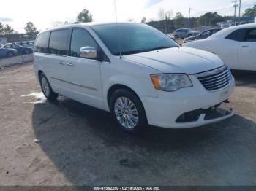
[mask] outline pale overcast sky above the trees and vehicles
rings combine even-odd
[[[241,0],[242,10],[256,4],[255,0]],[[89,9],[95,22],[115,21],[114,0],[2,0],[0,22],[8,23],[18,32],[23,32],[24,26],[31,21],[40,30],[50,28],[53,22],[74,21],[82,9]],[[233,15],[232,0],[116,0],[118,21],[133,18],[140,22],[142,17],[147,20],[157,20],[160,8],[172,10],[173,15],[181,12],[188,16],[203,15],[205,12],[219,12],[220,15]]]

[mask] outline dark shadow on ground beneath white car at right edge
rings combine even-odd
[[[256,88],[256,71],[232,71],[236,79],[236,86]]]

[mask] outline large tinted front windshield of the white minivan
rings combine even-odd
[[[113,55],[131,55],[179,45],[169,36],[140,23],[114,23],[91,26]]]

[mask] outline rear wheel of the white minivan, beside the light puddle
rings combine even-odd
[[[42,73],[39,75],[39,82],[42,93],[45,95],[45,98],[47,98],[49,101],[56,101],[59,94],[53,92],[53,89],[50,87],[50,83],[47,77],[45,77],[45,74]]]

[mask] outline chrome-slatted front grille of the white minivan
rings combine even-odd
[[[230,85],[232,79],[231,71],[230,69],[227,69],[226,66],[213,71],[197,74],[196,76],[203,87],[209,91],[219,90]]]

